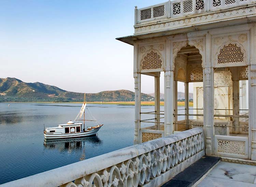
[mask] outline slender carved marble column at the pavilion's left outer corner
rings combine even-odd
[[[135,89],[135,127],[134,127],[134,145],[140,142],[140,119],[141,119],[141,74],[134,73],[134,89]]]

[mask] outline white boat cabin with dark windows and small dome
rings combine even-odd
[[[83,123],[74,123],[69,121],[67,124],[59,124],[57,127],[45,128],[46,133],[80,133]]]

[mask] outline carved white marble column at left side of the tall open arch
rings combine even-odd
[[[173,71],[165,72],[165,136],[173,134]]]

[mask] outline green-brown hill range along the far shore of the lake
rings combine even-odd
[[[154,97],[142,94],[142,101],[150,101]],[[55,101],[76,102],[83,101],[84,93],[77,93],[60,89],[56,86],[40,82],[25,83],[16,78],[0,78],[0,102],[4,101]],[[134,101],[134,92],[129,90],[101,91],[87,93],[87,101]]]

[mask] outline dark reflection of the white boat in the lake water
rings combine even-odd
[[[58,150],[59,152],[77,152],[81,154],[80,160],[85,159],[86,145],[91,144],[98,146],[102,143],[102,140],[98,136],[89,136],[84,138],[75,139],[44,139],[44,148]]]

